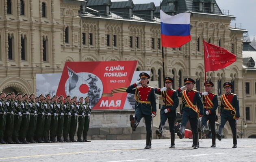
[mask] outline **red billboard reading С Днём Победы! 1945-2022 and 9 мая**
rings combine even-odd
[[[66,62],[56,94],[89,97],[94,110],[123,109],[137,61]]]

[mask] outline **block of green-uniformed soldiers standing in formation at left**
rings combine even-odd
[[[0,143],[90,142],[90,114],[89,97],[0,92]]]

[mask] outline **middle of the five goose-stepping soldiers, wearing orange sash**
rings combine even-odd
[[[204,105],[200,93],[193,90],[195,81],[191,78],[185,78],[184,83],[186,84],[187,90],[181,92],[178,89],[178,96],[182,98],[182,123],[180,127],[180,132],[177,135],[182,139],[184,137],[184,132],[186,124],[189,121],[192,134],[193,134],[193,145],[194,149],[197,149],[198,145],[198,117],[203,116]]]

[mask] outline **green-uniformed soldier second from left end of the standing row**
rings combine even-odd
[[[7,115],[6,115],[6,124],[5,124],[5,131],[4,136],[8,144],[15,144],[12,140],[12,134],[13,134],[13,124],[14,124],[14,110],[15,110],[15,94],[14,92],[11,92],[10,94],[7,94],[5,97],[7,99]],[[9,99],[8,99],[9,98]]]

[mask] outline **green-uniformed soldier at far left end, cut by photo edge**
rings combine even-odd
[[[0,93],[0,143],[1,144],[7,144],[4,141],[4,130],[5,130],[5,124],[6,124],[6,109],[7,104],[4,100],[6,94],[5,92]]]

